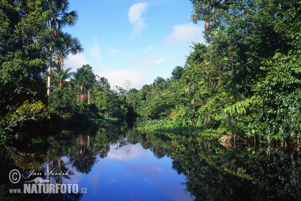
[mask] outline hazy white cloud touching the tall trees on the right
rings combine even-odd
[[[191,42],[205,43],[203,26],[196,24],[178,24],[173,26],[173,32],[163,40],[167,46],[189,46]]]

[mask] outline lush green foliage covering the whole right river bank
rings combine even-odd
[[[191,2],[191,20],[205,21],[208,45],[193,43],[186,65],[177,66],[164,87],[157,87],[156,80],[144,85],[137,112],[144,118],[164,118],[169,127],[298,141],[300,2]],[[164,110],[161,94],[167,91],[170,107]]]

